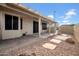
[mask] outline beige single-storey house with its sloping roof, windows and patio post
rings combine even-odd
[[[56,22],[51,18],[12,3],[0,4],[0,17],[2,40],[34,34],[40,37],[42,33],[52,33],[56,27]]]

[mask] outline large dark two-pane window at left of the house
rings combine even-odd
[[[5,14],[5,30],[18,30],[18,17]]]

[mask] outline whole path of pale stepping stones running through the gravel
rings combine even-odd
[[[62,42],[62,40],[66,40],[68,38],[71,38],[71,36],[67,36],[66,34],[63,34],[63,35],[56,35],[54,36],[53,39],[50,40],[50,42],[53,42],[53,43],[56,43],[56,44],[59,44]],[[47,49],[55,49],[57,47],[57,45],[55,44],[51,44],[50,42],[48,43],[45,43],[43,45],[43,47],[47,48]]]

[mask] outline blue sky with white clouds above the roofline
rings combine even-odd
[[[79,3],[23,3],[25,7],[54,18],[60,25],[79,23]]]

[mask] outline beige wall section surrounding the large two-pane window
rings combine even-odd
[[[18,30],[5,30],[5,13],[10,14],[10,15],[14,15],[14,13],[9,13],[6,11],[2,12],[2,19],[1,19],[2,20],[2,22],[1,22],[2,23],[1,24],[1,26],[2,26],[2,39],[20,37],[21,36],[20,29],[18,29]],[[17,16],[19,16],[19,15],[17,15]]]

